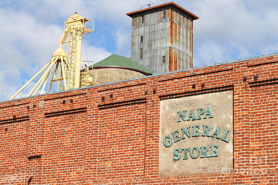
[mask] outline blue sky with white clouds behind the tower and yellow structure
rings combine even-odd
[[[85,42],[88,60],[98,62],[112,53],[130,57],[131,18],[125,13],[155,2],[0,1],[0,101],[9,99],[51,60],[64,20],[74,12],[95,21],[94,32]],[[200,17],[193,23],[193,66],[278,52],[276,0],[174,2]],[[82,47],[82,60],[87,60],[84,51]]]

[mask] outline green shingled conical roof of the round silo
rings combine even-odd
[[[111,67],[111,68],[125,68],[125,69],[131,69],[134,71],[142,72],[145,75],[151,75],[152,72],[150,72],[148,69],[146,69],[144,66],[136,62],[135,60],[131,58],[127,58],[120,55],[112,54],[108,56],[107,58],[99,61],[98,63],[95,63],[93,68],[104,68],[104,67]]]

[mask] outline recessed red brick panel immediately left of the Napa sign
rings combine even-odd
[[[98,180],[144,177],[146,105],[107,107],[99,113]]]

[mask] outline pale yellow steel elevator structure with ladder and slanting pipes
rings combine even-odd
[[[92,25],[85,27],[85,22],[92,21]],[[88,20],[84,16],[75,12],[69,19],[65,20],[65,31],[59,40],[59,48],[53,53],[51,61],[49,61],[35,76],[33,76],[22,88],[20,88],[11,98],[13,99],[28,84],[30,84],[37,76],[40,79],[33,86],[27,96],[36,95],[41,88],[40,93],[44,93],[44,89],[48,82],[48,76],[52,73],[48,91],[50,92],[53,82],[57,82],[57,91],[79,88],[80,82],[80,61],[81,61],[81,41],[94,29],[93,20]],[[86,34],[86,35],[83,35]],[[68,39],[66,41],[66,39]],[[66,53],[62,48],[63,44],[67,44]],[[54,72],[51,69],[55,66]],[[43,73],[42,73],[43,72]]]

